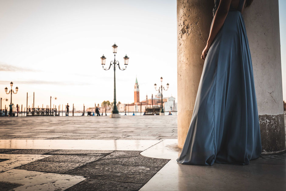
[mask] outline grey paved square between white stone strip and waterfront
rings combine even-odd
[[[177,116],[0,118],[0,139],[161,140],[177,138]]]

